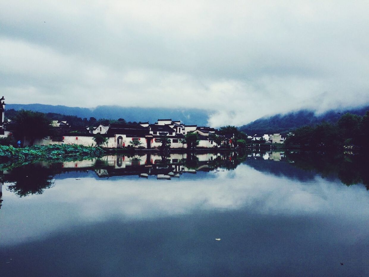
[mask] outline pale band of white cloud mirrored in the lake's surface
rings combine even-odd
[[[247,208],[269,215],[317,215],[360,219],[369,216],[368,194],[316,177],[309,183],[260,173],[246,165],[212,179],[158,181],[149,178],[56,180],[42,195],[19,199],[5,191],[1,243],[23,241],[40,233],[110,217],[141,220],[197,210]],[[347,208],[350,205],[350,209]],[[4,210],[3,210],[4,208]],[[356,211],[360,210],[360,214]],[[16,222],[16,223],[14,223]],[[363,224],[362,228],[369,226]]]

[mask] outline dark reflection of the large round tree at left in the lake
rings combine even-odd
[[[16,167],[7,176],[8,189],[16,195],[22,197],[30,194],[42,194],[45,188],[54,184],[53,177],[56,174],[53,167],[46,168],[40,164],[28,164]]]

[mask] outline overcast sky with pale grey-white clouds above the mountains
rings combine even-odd
[[[369,103],[368,1],[0,1],[6,103],[215,110]]]

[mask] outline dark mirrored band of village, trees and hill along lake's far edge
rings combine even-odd
[[[93,170],[99,178],[113,176],[168,176],[183,173],[233,170],[244,163],[260,172],[292,179],[313,180],[317,174],[328,180],[339,179],[343,184],[364,184],[369,189],[369,162],[363,153],[321,153],[300,151],[227,152],[189,154],[141,154],[134,156],[108,155],[90,160],[59,163],[36,162],[0,173],[1,181],[10,183],[7,189],[23,197],[41,194],[54,184],[57,174]],[[276,163],[277,162],[277,163]],[[280,163],[278,163],[280,162]],[[65,176],[69,177],[69,176]],[[63,178],[63,176],[59,176]],[[1,204],[1,202],[0,202]],[[0,206],[1,207],[1,206]]]

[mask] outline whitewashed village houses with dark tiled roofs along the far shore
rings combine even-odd
[[[4,97],[3,97],[4,100]],[[99,124],[91,127],[74,127],[65,120],[54,120],[50,124],[50,134],[42,138],[31,139],[26,136],[19,138],[16,121],[4,122],[5,103],[1,103],[0,138],[14,136],[18,146],[28,145],[83,145],[102,146],[104,148],[139,148],[158,149],[166,141],[173,149],[235,148],[238,146],[234,133],[219,132],[218,129],[206,126],[186,125],[180,120],[158,119],[154,124],[138,122],[137,124]],[[189,135],[195,137],[194,145],[189,142]],[[246,134],[245,134],[246,135]],[[102,143],[96,137],[102,137]],[[283,143],[286,134],[255,134],[247,135],[250,143]],[[20,143],[19,143],[20,142]]]

